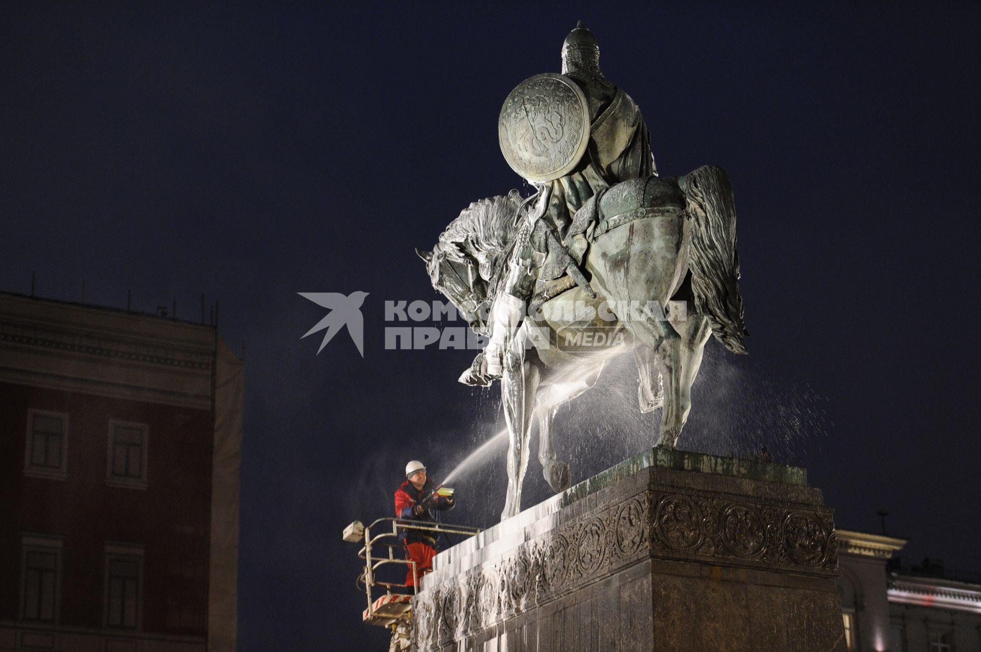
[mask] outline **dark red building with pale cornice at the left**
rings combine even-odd
[[[213,326],[0,293],[0,650],[234,650],[242,371]]]

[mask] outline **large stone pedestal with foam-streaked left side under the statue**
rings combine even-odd
[[[845,650],[832,510],[796,467],[649,450],[435,567],[418,652]]]

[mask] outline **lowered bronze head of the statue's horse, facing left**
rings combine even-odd
[[[430,281],[460,312],[476,332],[487,334],[488,284],[477,261],[457,247],[439,242],[433,251],[416,249],[426,262]]]

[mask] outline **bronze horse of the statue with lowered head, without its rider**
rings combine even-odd
[[[516,239],[514,196],[471,204],[432,252],[419,252],[433,286],[479,332],[486,332],[482,307],[505,276]],[[563,403],[594,385],[611,357],[633,344],[641,409],[662,408],[656,445],[674,448],[708,337],[715,335],[733,353],[747,353],[736,210],[721,168],[623,181],[590,202],[597,205],[588,202],[580,211],[592,208],[596,216],[584,233],[591,243],[582,260],[593,292],[570,282],[556,296],[540,297],[541,306],[533,299],[507,351],[511,364],[501,378],[501,400],[510,444],[502,520],[520,511],[533,415],[540,422],[545,479],[555,491],[568,488],[571,474],[555,459],[552,420]],[[669,310],[657,315],[644,309],[649,306]],[[603,333],[598,347],[562,346],[563,337],[581,341],[577,334],[597,327]]]

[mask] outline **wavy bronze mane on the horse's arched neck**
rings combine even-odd
[[[513,220],[521,201],[517,190],[475,201],[439,234],[440,248],[450,258],[459,257],[460,247],[482,263],[497,258],[514,237]]]

